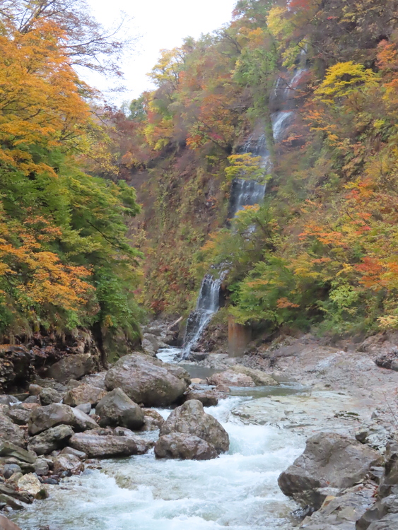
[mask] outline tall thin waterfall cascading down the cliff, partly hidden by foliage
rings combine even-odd
[[[305,73],[305,69],[297,69],[286,86],[281,88],[281,78],[276,82],[274,88],[274,95],[281,90],[280,99],[285,110],[279,110],[271,114],[272,132],[276,142],[281,141],[286,133],[286,130],[291,125],[294,119],[294,110],[286,110],[289,107],[289,102],[293,101],[292,90],[297,88],[301,78]],[[265,134],[257,138],[250,136],[244,146],[242,146],[242,153],[252,153],[253,156],[262,157],[262,167],[271,169],[271,160],[269,150],[267,148],[267,140]],[[230,218],[233,218],[245,206],[254,206],[254,204],[262,204],[265,195],[265,184],[260,184],[255,180],[238,178],[233,181],[229,212]],[[209,324],[213,314],[216,313],[220,307],[220,290],[223,279],[226,277],[228,271],[220,273],[218,277],[211,274],[206,274],[201,283],[199,296],[197,299],[196,309],[189,314],[187,320],[187,329],[185,331],[184,344],[182,350],[182,357],[187,358],[195,343],[199,340],[202,332]]]

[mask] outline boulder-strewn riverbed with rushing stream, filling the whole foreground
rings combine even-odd
[[[0,396],[0,506],[21,529],[398,528],[394,337],[179,362],[152,331],[109,370],[74,352]]]

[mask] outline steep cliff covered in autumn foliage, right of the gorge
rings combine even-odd
[[[228,28],[163,54],[124,155],[151,310],[186,314],[226,264],[237,322],[397,325],[396,4],[240,1]],[[231,219],[245,181],[264,202]]]

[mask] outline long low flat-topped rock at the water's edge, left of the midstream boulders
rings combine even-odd
[[[89,458],[130,457],[139,454],[134,438],[127,436],[96,435],[80,432],[71,437],[69,445]]]

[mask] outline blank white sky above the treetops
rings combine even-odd
[[[109,26],[124,11],[134,17],[133,31],[141,35],[136,52],[121,65],[123,84],[128,90],[114,96],[114,102],[131,100],[152,88],[146,73],[156,64],[159,50],[180,46],[184,37],[197,38],[220,28],[230,20],[235,3],[236,0],[88,0],[100,23]],[[103,90],[108,100],[112,99],[106,91],[114,81],[93,74],[86,80]]]

